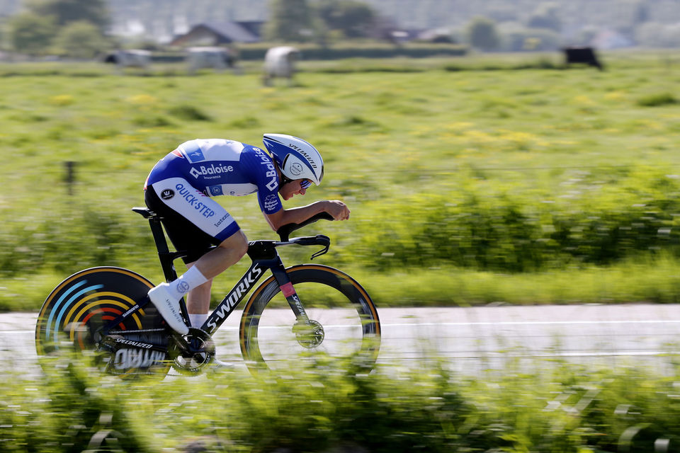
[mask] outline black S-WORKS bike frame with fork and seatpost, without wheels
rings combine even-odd
[[[157,217],[156,214],[153,214],[148,210],[143,210],[139,208],[135,208],[134,211],[139,214],[142,214],[145,218],[149,220],[149,225],[151,226],[151,231],[154,236],[154,242],[156,243],[159,260],[161,262],[161,267],[163,269],[163,274],[165,276],[166,281],[171,282],[173,280],[176,280],[177,273],[175,270],[174,261],[178,258],[186,256],[186,252],[183,251],[171,252],[169,250],[168,243],[163,233],[161,219]],[[284,236],[283,234],[281,235],[283,239]],[[324,239],[326,241],[328,240],[326,236],[319,235],[317,236],[316,239],[318,238],[322,239],[321,242],[316,243],[317,245],[322,246],[328,245],[327,242],[324,242]],[[288,233],[285,234],[285,239],[288,239]],[[283,291],[285,299],[288,301],[290,309],[292,309],[293,313],[295,313],[295,318],[298,321],[308,321],[309,319],[307,318],[305,309],[302,307],[302,304],[300,304],[300,299],[297,297],[295,289],[293,289],[293,285],[290,285],[290,278],[288,278],[288,274],[285,273],[283,261],[281,261],[281,258],[278,255],[278,252],[276,251],[277,246],[288,245],[290,243],[296,242],[295,240],[293,241],[286,240],[282,242],[277,241],[249,242],[248,256],[253,261],[252,264],[250,265],[250,268],[246,271],[246,273],[244,273],[243,277],[241,277],[239,282],[236,285],[234,285],[231,291],[229,291],[227,296],[224,299],[222,299],[222,302],[220,302],[220,304],[217,304],[215,310],[212,311],[212,313],[208,316],[208,319],[205,321],[205,323],[203,323],[203,326],[200,326],[200,328],[203,331],[210,333],[211,335],[212,333],[217,331],[217,329],[220,328],[220,326],[222,326],[222,323],[224,323],[225,320],[229,317],[229,315],[232,314],[232,311],[234,311],[234,309],[236,309],[237,306],[239,306],[239,304],[242,302],[246,294],[250,292],[250,290],[254,287],[256,282],[260,280],[260,278],[264,275],[264,273],[266,273],[267,270],[271,270],[271,273],[273,274],[274,278],[276,278],[276,282],[278,282],[279,287],[282,287],[282,290],[285,288],[285,291]],[[302,245],[314,245],[313,240],[305,242],[300,241],[298,243],[302,243]],[[149,304],[149,302],[151,302],[149,297],[148,296],[144,297],[142,300],[137,302],[135,306],[132,306],[131,309],[125,311],[125,313],[120,314],[116,319],[109,322],[102,329],[101,331],[102,335],[107,336],[108,333],[113,328],[115,328],[115,326],[118,326],[118,324],[123,322],[126,318],[128,318],[128,316],[136,313],[144,306]],[[180,301],[180,309],[184,320],[188,321],[189,316],[186,310],[186,302],[184,302],[184,299],[181,299]],[[187,322],[187,324],[189,323]]]

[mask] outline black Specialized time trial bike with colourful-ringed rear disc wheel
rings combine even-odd
[[[142,207],[132,211],[148,219],[164,277],[175,280],[174,260],[186,253],[169,250],[159,215]],[[249,269],[205,323],[191,326],[184,336],[149,303],[147,292],[155,285],[147,278],[111,266],[81,270],[57,285],[42,305],[35,326],[38,356],[54,354],[65,341],[76,350],[94,351],[99,367],[123,377],[164,376],[171,368],[200,374],[215,357],[212,335],[251,293],[239,322],[241,353],[251,372],[318,353],[351,357],[370,369],[380,350],[380,320],[365,289],[327,265],[285,268],[278,254],[277,248],[289,245],[321,246],[312,260],[327,253],[328,236],[290,239],[293,231],[319,219],[332,217],[322,213],[282,226],[280,241],[249,242]],[[255,287],[267,271],[271,275]],[[183,299],[180,307],[189,325]]]

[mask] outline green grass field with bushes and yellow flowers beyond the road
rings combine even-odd
[[[129,212],[149,169],[187,139],[263,132],[322,151],[324,184],[288,205],[348,203],[350,222],[307,231],[331,236],[321,262],[378,304],[676,301],[678,62],[611,54],[600,72],[551,58],[304,62],[293,87],[263,87],[253,64],[1,65],[0,308],[35,309],[90,265],[160,280]],[[254,197],[221,202],[250,239],[273,236]]]

